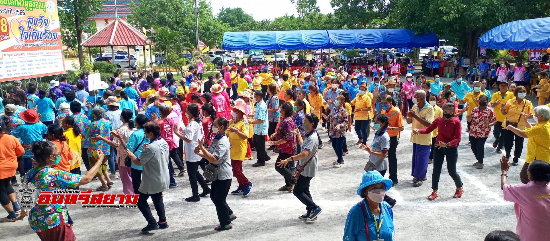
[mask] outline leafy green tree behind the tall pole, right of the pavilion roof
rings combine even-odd
[[[134,5],[133,3],[129,4]],[[212,15],[212,8],[206,1],[199,1],[199,39],[210,47],[221,46],[223,32],[229,25],[222,23]],[[195,3],[188,0],[148,1],[131,10],[128,17],[131,23],[144,26],[167,26],[171,30],[184,32],[196,48]]]

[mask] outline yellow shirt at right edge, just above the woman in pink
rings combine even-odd
[[[527,138],[527,155],[525,162],[531,163],[533,160],[542,160],[550,163],[550,122],[541,122],[531,128],[524,130]]]

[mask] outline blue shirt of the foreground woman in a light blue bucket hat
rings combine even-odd
[[[363,214],[363,208],[365,214]],[[382,221],[380,228],[380,237],[377,237],[376,227],[372,211],[362,200],[355,204],[348,212],[348,217],[345,220],[343,241],[364,241],[367,240],[365,229],[365,218],[368,226],[368,240],[383,239],[384,241],[393,241],[395,236],[395,227],[393,225],[393,211],[386,201],[380,203],[380,217],[376,218],[377,223]]]

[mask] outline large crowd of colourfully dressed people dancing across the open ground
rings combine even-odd
[[[246,169],[265,166],[271,150],[278,154],[273,165],[282,176],[278,190],[292,192],[306,206],[298,218],[315,221],[322,209],[313,202],[309,187],[320,165],[317,150],[324,147],[323,141],[330,143],[335,154],[332,167],[338,169],[345,165],[350,141],[365,150],[368,161],[357,189],[362,200],[349,211],[343,240],[393,240],[392,208],[397,200],[386,192],[399,183],[397,152],[403,151],[398,145],[400,133],[406,131],[404,121],[411,124],[412,185],[427,181],[428,165],[433,164],[427,198],[436,199],[446,161],[456,187],[453,198],[461,198],[466,190],[456,164],[465,115],[475,168],[483,168],[491,129],[494,150],[505,151],[504,198],[521,210],[529,206],[531,215],[518,216],[519,236],[527,241],[550,236],[541,234],[547,222],[540,221],[548,218],[542,211],[550,205],[548,200],[522,195],[550,193],[550,104],[539,102],[533,108],[524,85],[498,79],[499,91],[491,94],[486,79],[472,82],[470,88],[460,74],[443,83],[437,74],[432,79],[414,76],[410,65],[404,79],[398,66],[387,71],[378,65],[365,69],[321,62],[281,68],[229,63],[202,79],[191,66],[179,81],[172,73],[161,79],[156,71],[122,81],[115,72],[99,89],[89,86],[89,73],[81,74],[75,85],[66,77],[51,81],[48,90],[29,85],[24,91],[15,81],[2,100],[0,121],[0,143],[7,147],[0,149],[0,201],[8,212],[2,222],[28,215],[42,240],[74,238],[66,205],[36,205],[26,213],[12,186],[26,182],[41,190],[75,189],[97,179],[101,186],[95,190],[107,192],[119,179],[124,194],[139,194],[138,208],[147,222],[141,231],[168,228],[163,192],[178,187],[174,176],[186,173],[191,193],[185,201],[210,195],[219,220],[214,229],[231,229],[237,215],[229,208],[228,194],[251,194],[252,182],[262,180],[249,180]],[[547,75],[538,76],[536,88],[544,96]],[[322,131],[329,139],[321,138]],[[351,131],[356,140],[346,135]],[[520,172],[524,184],[507,184],[507,160],[518,165],[525,138],[529,142]],[[243,165],[253,159],[251,166]],[[386,172],[389,178],[383,178]],[[238,182],[235,190],[230,189],[233,177]],[[149,198],[158,221],[147,204]]]

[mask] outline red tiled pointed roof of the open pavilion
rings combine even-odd
[[[107,24],[102,30],[87,38],[84,47],[144,46],[155,44],[142,32],[120,19]]]

